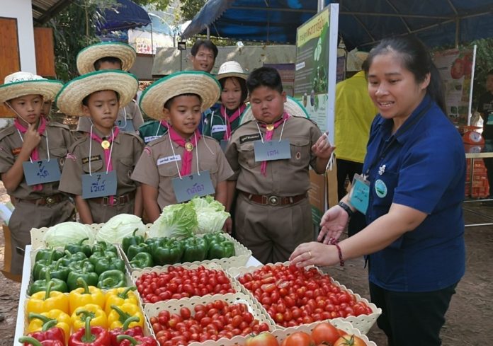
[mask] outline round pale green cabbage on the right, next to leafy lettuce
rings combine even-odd
[[[101,226],[101,229],[96,234],[96,240],[121,244],[122,239],[126,236],[132,236],[135,229],[138,230],[135,233],[136,235],[144,236],[145,225],[140,217],[132,214],[115,215]]]

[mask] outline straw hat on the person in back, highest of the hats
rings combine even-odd
[[[132,46],[122,42],[101,42],[85,47],[77,54],[79,74],[94,71],[94,63],[103,57],[116,57],[122,62],[123,71],[128,71],[135,62],[137,53]]]

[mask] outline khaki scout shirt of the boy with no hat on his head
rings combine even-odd
[[[274,130],[272,140],[279,140],[283,124]],[[260,127],[262,138],[266,129]],[[267,161],[267,176],[260,173],[261,162],[255,162],[254,141],[261,140],[255,121],[246,122],[233,132],[226,149],[226,158],[234,171],[229,180],[237,180],[237,189],[254,195],[283,197],[302,195],[310,189],[308,167],[315,168],[317,156],[312,145],[322,135],[317,125],[303,117],[289,117],[283,138],[289,139],[291,158]],[[323,172],[317,172],[323,173]]]

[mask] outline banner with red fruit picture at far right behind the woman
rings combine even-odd
[[[471,77],[474,50],[443,50],[433,53],[445,87],[446,113],[455,125],[467,125],[472,102]]]

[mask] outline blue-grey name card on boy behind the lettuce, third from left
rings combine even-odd
[[[200,172],[200,175],[193,173],[181,178],[182,179],[174,178],[171,180],[176,201],[179,203],[191,200],[196,196],[203,197],[215,194],[209,171],[202,171]]]

